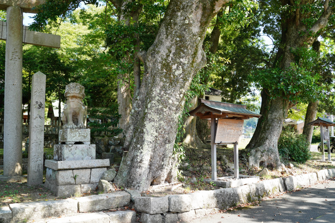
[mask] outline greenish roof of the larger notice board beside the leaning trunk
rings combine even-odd
[[[231,104],[226,102],[210,101],[199,98],[199,106],[188,112],[190,115],[199,116],[201,119],[210,118],[215,114],[218,118],[259,118],[261,115],[247,110],[246,105]]]

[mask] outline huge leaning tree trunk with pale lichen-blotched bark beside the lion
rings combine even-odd
[[[148,190],[171,169],[178,116],[194,75],[205,65],[202,42],[225,0],[171,0],[144,61],[140,94],[134,98],[123,156],[115,182]]]

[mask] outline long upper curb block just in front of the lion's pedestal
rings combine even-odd
[[[103,193],[77,199],[79,212],[107,210],[129,205],[130,194],[124,191]]]

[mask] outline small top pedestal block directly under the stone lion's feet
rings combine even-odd
[[[74,144],[81,142],[89,144],[91,132],[89,128],[66,128],[59,130],[59,143]]]

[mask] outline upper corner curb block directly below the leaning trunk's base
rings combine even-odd
[[[168,211],[168,196],[135,197],[135,209],[147,214],[163,214]]]

